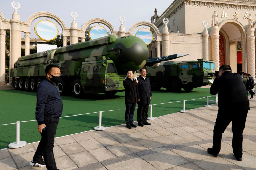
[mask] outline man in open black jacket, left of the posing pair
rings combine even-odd
[[[138,80],[133,79],[133,70],[127,71],[127,78],[123,80],[123,87],[125,87],[125,122],[126,127],[131,129],[137,127],[133,124],[133,114],[138,98]]]

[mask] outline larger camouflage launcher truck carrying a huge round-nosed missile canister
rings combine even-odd
[[[127,70],[137,71],[149,57],[145,42],[135,36],[114,35],[18,58],[10,71],[17,90],[35,91],[45,78],[49,63],[60,67],[61,79],[56,83],[61,94],[72,91],[104,92],[114,95],[123,91]]]

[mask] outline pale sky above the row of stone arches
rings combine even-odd
[[[1,0],[0,11],[5,19],[11,19],[14,9],[11,2],[14,0]],[[15,1],[17,2],[17,1]],[[155,0],[18,0],[21,7],[18,10],[21,21],[26,22],[32,14],[40,11],[51,12],[60,17],[66,27],[71,27],[71,12],[77,12],[76,22],[78,28],[89,19],[103,18],[110,22],[116,31],[119,30],[120,16],[125,16],[125,31],[139,21],[150,22],[151,15],[157,8],[158,15],[161,15],[173,2],[173,0],[161,0],[159,3]],[[39,20],[46,18],[39,18]],[[36,22],[36,23],[37,23]],[[34,23],[34,25],[36,24]],[[31,37],[33,37],[31,30]],[[33,37],[35,38],[35,37]]]

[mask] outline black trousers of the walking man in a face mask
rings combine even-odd
[[[59,118],[45,116],[45,130],[41,134],[41,141],[35,151],[33,161],[45,159],[45,165],[48,170],[57,169],[56,162],[53,155],[54,137],[56,134]]]

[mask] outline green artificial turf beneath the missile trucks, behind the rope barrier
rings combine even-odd
[[[105,94],[85,95],[83,98],[62,96],[62,116],[70,116],[98,111],[107,111],[125,108],[125,93],[118,92],[110,97]],[[212,96],[209,100],[215,100],[215,96],[209,93],[207,88],[195,88],[191,92],[180,93],[167,92],[161,89],[152,92],[151,104],[167,103],[198,99]],[[186,101],[185,110],[194,109],[206,105],[207,99]],[[35,120],[36,93],[18,90],[0,90],[0,125],[14,123],[16,121]],[[152,106],[152,117],[163,116],[183,110],[183,102],[160,104]],[[125,124],[125,110],[102,112],[102,126],[109,127]],[[99,113],[81,116],[61,118],[55,137],[93,130],[98,126]],[[135,109],[134,121],[137,120]],[[37,131],[37,122],[21,122],[20,140],[27,143],[40,141],[41,136]],[[16,141],[16,124],[0,126],[0,149]]]

